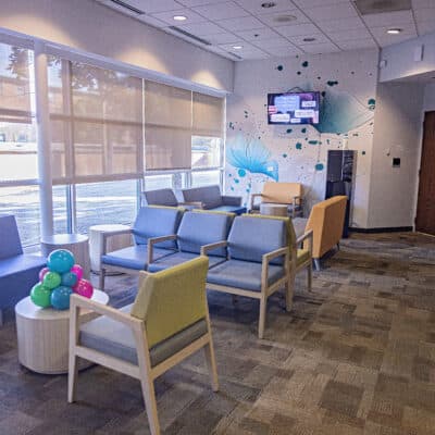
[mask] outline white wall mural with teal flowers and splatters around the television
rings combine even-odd
[[[358,151],[353,226],[365,226],[377,52],[298,55],[236,65],[227,99],[225,186],[249,203],[266,181],[303,184],[307,212],[324,198],[328,149]],[[266,96],[321,92],[318,125],[268,125]]]

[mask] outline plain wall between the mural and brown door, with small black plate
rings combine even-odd
[[[424,86],[378,84],[368,226],[412,226],[420,164]],[[400,167],[393,167],[393,158]]]

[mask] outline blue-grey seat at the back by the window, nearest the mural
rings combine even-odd
[[[202,186],[182,190],[183,198],[187,202],[201,203],[204,210],[226,211],[229,213],[246,213],[246,207],[241,206],[241,197],[221,195],[219,186]]]

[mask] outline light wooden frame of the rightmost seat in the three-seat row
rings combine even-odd
[[[226,247],[227,245],[228,245],[227,240],[222,240],[222,241],[217,241],[215,244],[204,245],[201,247],[201,256],[207,256],[207,252],[209,252],[210,250],[216,249],[216,248],[223,248],[223,247]],[[278,257],[284,257],[284,276],[269,286],[268,285],[269,264],[273,259],[278,258]],[[290,288],[288,247],[279,248],[274,251],[264,253],[262,256],[260,291],[247,290],[247,289],[239,288],[239,287],[231,287],[231,286],[224,286],[224,285],[220,285],[220,284],[212,284],[209,282],[207,283],[207,288],[209,288],[211,290],[227,293],[231,295],[245,296],[245,297],[252,298],[252,299],[259,299],[260,300],[260,315],[259,315],[258,336],[259,336],[259,338],[263,338],[265,315],[266,315],[266,309],[268,309],[268,298],[271,295],[273,295],[274,293],[276,293],[277,290],[279,290],[279,288],[282,288],[286,284],[287,284],[286,299],[288,299],[288,297],[293,296],[293,293],[290,293],[291,288]]]

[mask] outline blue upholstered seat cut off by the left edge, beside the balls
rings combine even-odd
[[[0,325],[2,310],[28,296],[46,259],[23,253],[15,216],[0,216]]]

